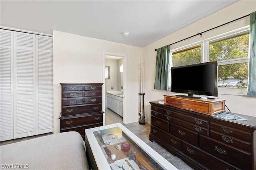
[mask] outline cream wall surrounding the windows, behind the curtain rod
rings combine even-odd
[[[156,51],[164,45],[168,45],[184,38],[188,38],[200,32],[204,32],[216,26],[220,26],[224,23],[230,22],[242,16],[246,16],[256,11],[256,1],[241,0],[232,6],[229,6],[215,14],[212,14],[194,24],[187,26],[157,42],[147,45],[143,48],[143,56],[145,60],[145,115],[146,120],[150,121],[150,101],[164,100],[163,95],[170,95],[170,91],[161,91],[154,89],[155,80],[155,62],[156,62]],[[198,42],[218,34],[222,34],[237,28],[248,26],[250,22],[250,16],[232,22],[228,25],[222,26],[210,32],[203,34],[202,37],[196,36],[188,40],[182,41],[171,45],[170,49],[182,47],[190,43]],[[175,24],[175,23],[174,23]],[[236,96],[236,95],[219,95],[220,99],[226,99],[226,105],[234,113],[240,113],[244,115],[250,115],[256,117],[256,98],[247,96]]]

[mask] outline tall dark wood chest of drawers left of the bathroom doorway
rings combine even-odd
[[[84,138],[84,129],[103,126],[102,84],[60,83],[60,132],[76,131]]]

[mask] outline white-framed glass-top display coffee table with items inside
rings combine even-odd
[[[85,129],[93,170],[177,170],[121,123]]]

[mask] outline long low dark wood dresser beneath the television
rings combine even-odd
[[[224,120],[159,101],[150,104],[150,140],[192,168],[256,169],[256,117],[236,114],[247,120]]]

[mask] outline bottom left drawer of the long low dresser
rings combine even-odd
[[[156,138],[162,140],[162,142],[166,143],[168,146],[172,146],[181,151],[181,140],[160,128],[151,125],[151,134]]]

